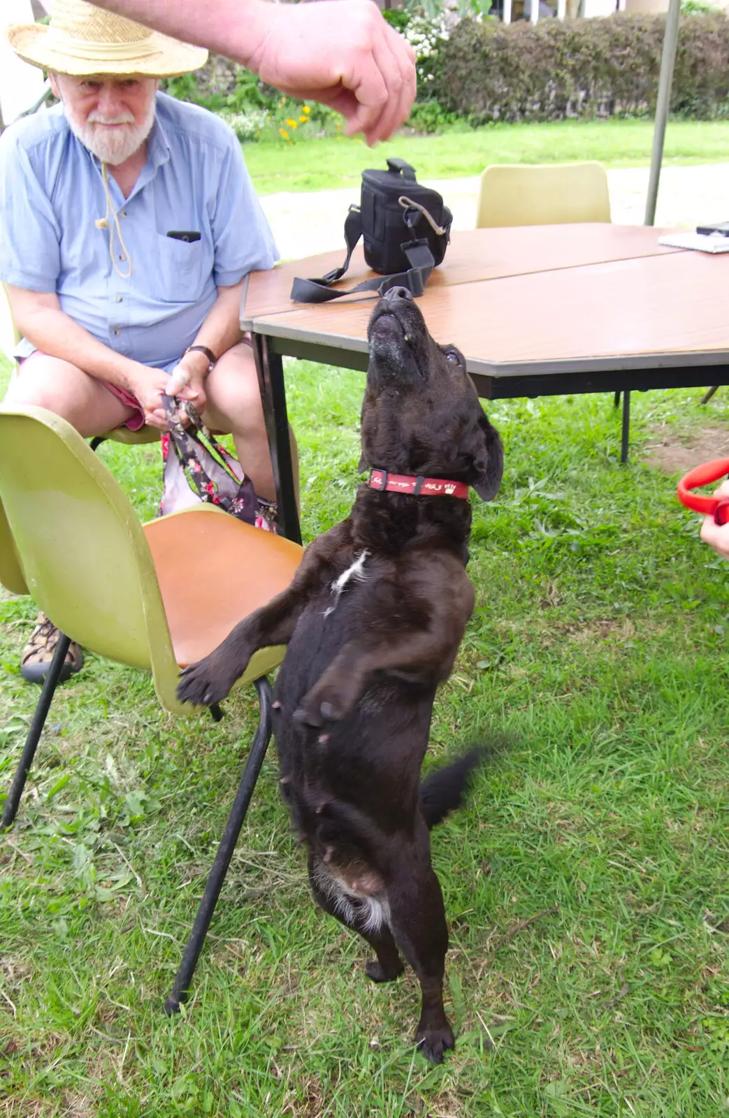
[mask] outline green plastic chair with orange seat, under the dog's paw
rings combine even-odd
[[[0,407],[0,582],[30,594],[60,631],[4,804],[15,819],[69,641],[152,673],[164,710],[199,713],[176,694],[180,667],[211,652],[248,613],[284,590],[303,549],[210,505],[141,524],[81,435],[45,408]],[[165,1010],[179,1010],[271,739],[263,648],[239,685],[258,692],[258,729]],[[218,720],[221,712],[211,707]]]

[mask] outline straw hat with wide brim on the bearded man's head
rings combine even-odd
[[[205,65],[207,50],[151,31],[85,0],[55,0],[50,22],[8,28],[25,61],[58,74],[174,77]]]

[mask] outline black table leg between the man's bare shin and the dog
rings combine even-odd
[[[263,414],[268,434],[268,446],[271,447],[281,533],[295,543],[301,543],[301,527],[288,439],[284,366],[281,356],[273,351],[271,338],[254,333],[253,347],[258,385],[261,386]]]

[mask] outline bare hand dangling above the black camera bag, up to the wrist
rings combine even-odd
[[[387,140],[415,100],[415,51],[372,0],[267,4],[263,38],[245,61],[293,97],[330,105],[347,133]]]

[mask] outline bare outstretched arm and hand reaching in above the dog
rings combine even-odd
[[[372,0],[94,0],[177,39],[208,47],[293,97],[330,105],[347,132],[387,140],[415,100],[415,54]]]

